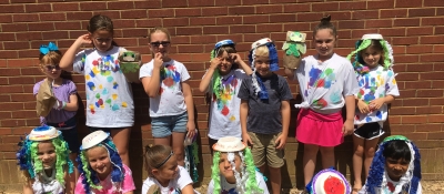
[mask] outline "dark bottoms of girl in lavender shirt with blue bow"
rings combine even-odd
[[[47,123],[49,126],[54,126],[62,132],[63,140],[68,143],[71,153],[79,153],[80,143],[79,135],[77,132],[77,120],[75,116],[61,123]]]

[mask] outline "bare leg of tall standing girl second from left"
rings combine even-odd
[[[130,166],[130,155],[128,154],[128,147],[130,143],[131,127],[125,127],[122,130],[111,130],[112,141],[119,151],[120,159],[122,163]]]

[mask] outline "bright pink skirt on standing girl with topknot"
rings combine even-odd
[[[301,143],[336,146],[344,142],[341,111],[321,114],[311,109],[301,109],[296,123],[296,139]]]

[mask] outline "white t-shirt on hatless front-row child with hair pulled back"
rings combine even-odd
[[[163,187],[154,177],[148,177],[143,182],[142,194],[145,194],[150,186],[154,184],[160,187],[161,194],[180,194],[180,191],[182,191],[182,188],[184,188],[186,185],[193,184],[193,181],[191,180],[190,174],[188,174],[186,170],[182,166],[179,166],[178,177],[171,180],[167,187]]]

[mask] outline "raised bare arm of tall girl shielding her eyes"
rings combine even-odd
[[[80,35],[75,42],[68,49],[60,60],[59,67],[65,71],[72,71],[72,62],[75,59],[75,53],[83,44],[92,44],[90,34]]]

